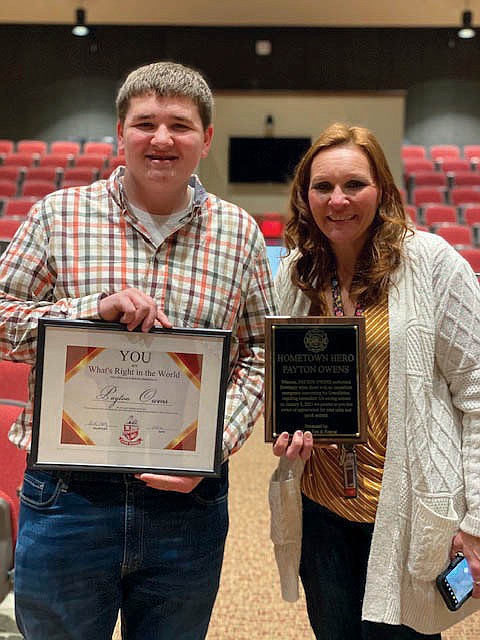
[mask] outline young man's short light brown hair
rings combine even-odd
[[[204,129],[212,122],[213,95],[201,73],[177,62],[153,62],[132,71],[120,87],[117,99],[117,115],[125,121],[130,99],[136,96],[156,94],[163,97],[190,98],[197,106]]]

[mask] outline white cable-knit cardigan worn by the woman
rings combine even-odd
[[[282,315],[310,307],[290,281],[296,258],[284,258],[276,277]],[[435,586],[455,533],[480,537],[480,287],[442,238],[417,232],[405,241],[388,309],[387,452],[363,618],[432,634],[480,608],[470,598],[453,613]],[[279,570],[295,593],[285,582],[296,580],[291,566]]]

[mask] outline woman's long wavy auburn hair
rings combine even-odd
[[[409,220],[395,186],[385,154],[371,131],[335,123],[313,143],[297,166],[293,179],[289,218],[285,226],[285,245],[300,255],[292,268],[292,282],[299,287],[321,315],[327,313],[324,291],[331,285],[335,256],[326,236],[315,223],[308,204],[313,159],[325,149],[356,146],[368,158],[380,193],[378,209],[370,228],[370,237],[357,261],[350,294],[361,304],[377,304],[386,299],[390,277],[398,267]]]

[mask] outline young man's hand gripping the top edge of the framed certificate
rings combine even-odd
[[[172,327],[165,313],[158,309],[155,300],[139,289],[124,289],[102,298],[98,312],[102,320],[126,324],[129,331],[140,325],[144,333],[154,325],[167,329]]]

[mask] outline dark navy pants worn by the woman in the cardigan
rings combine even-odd
[[[373,524],[349,522],[303,496],[300,577],[317,640],[440,640],[404,625],[362,622]]]

